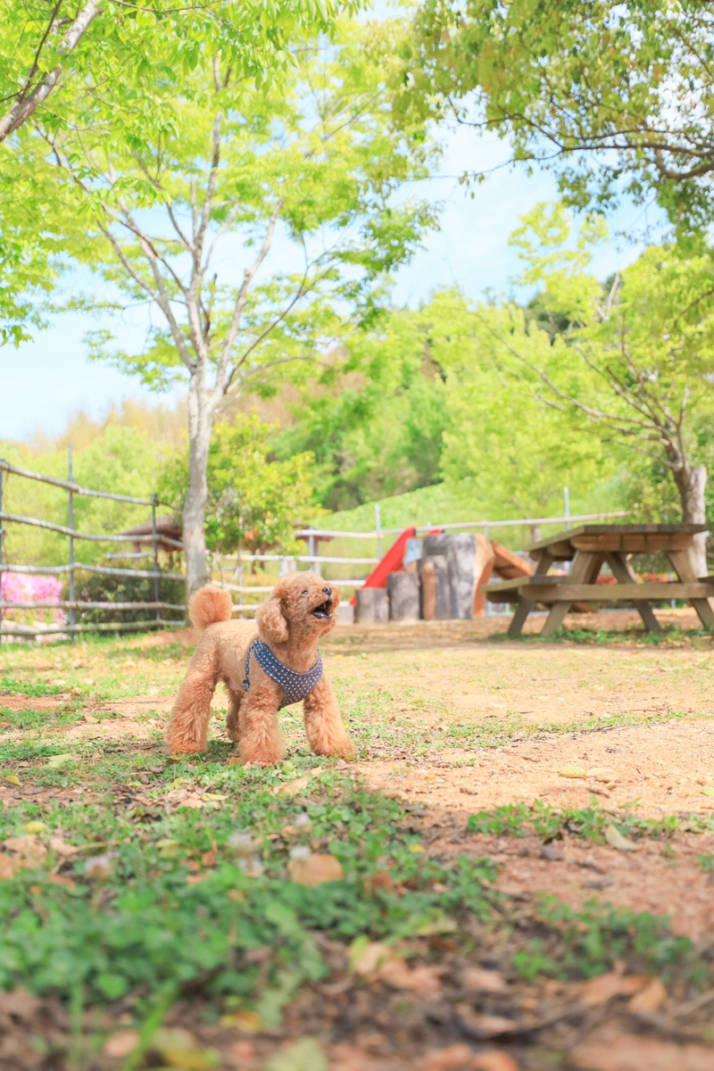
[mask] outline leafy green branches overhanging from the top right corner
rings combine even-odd
[[[711,3],[424,0],[402,56],[402,114],[496,132],[580,207],[627,194],[683,232],[712,222]]]

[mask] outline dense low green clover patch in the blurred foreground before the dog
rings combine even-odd
[[[24,984],[70,999],[79,986],[86,999],[106,1001],[147,991],[178,996],[200,979],[204,998],[234,1004],[256,999],[265,984],[264,962],[252,964],[255,949],[272,950],[269,987],[279,976],[289,995],[325,975],[316,932],[400,940],[453,929],[453,912],[488,914],[495,870],[472,861],[447,874],[417,850],[393,801],[330,772],[308,801],[284,800],[270,772],[206,766],[198,784],[230,791],[210,812],[179,805],[166,813],[159,801],[154,811],[121,796],[112,809],[15,809],[3,835],[22,835],[30,824],[46,830],[50,848],[35,868],[0,883],[0,918],[12,921],[0,947],[0,989]],[[259,872],[242,858],[237,833],[252,839]],[[52,835],[77,853],[62,862]],[[295,845],[333,855],[345,879],[315,889],[289,880]],[[58,866],[62,885],[48,880]],[[366,894],[369,874],[384,868],[405,891]]]

